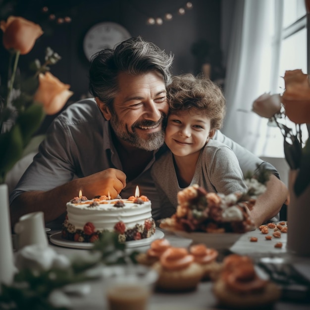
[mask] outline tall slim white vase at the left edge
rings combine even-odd
[[[13,281],[16,267],[14,265],[6,184],[0,184],[0,214],[0,283],[10,284]]]

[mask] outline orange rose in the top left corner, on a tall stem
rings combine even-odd
[[[36,40],[43,34],[42,28],[25,18],[10,16],[1,20],[3,45],[5,49],[19,51],[22,55],[29,53]]]

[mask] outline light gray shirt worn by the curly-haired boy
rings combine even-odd
[[[170,217],[178,205],[180,187],[170,151],[162,155],[152,166],[151,175],[160,193],[161,216]],[[189,185],[198,184],[207,192],[244,193],[247,190],[236,155],[226,145],[210,139],[201,150],[193,179]]]

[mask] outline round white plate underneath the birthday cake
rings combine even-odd
[[[161,230],[156,229],[155,234],[152,235],[150,238],[126,241],[126,247],[136,248],[136,247],[147,246],[156,239],[162,239],[163,236],[164,236],[164,233]],[[50,237],[50,241],[57,246],[61,246],[65,248],[73,248],[73,249],[92,249],[94,246],[94,243],[91,243],[91,242],[75,242],[75,241],[69,241],[66,239],[62,239],[61,231],[53,234]]]

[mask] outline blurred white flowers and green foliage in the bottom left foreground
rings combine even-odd
[[[93,268],[136,263],[138,252],[126,251],[126,245],[118,241],[117,233],[105,232],[84,254],[67,258],[51,247],[29,245],[22,248],[16,254],[18,271],[14,281],[0,283],[0,309],[71,309],[66,285],[100,278],[102,273],[98,269],[88,273]]]

